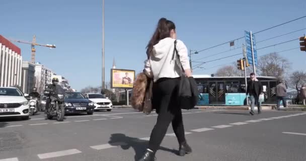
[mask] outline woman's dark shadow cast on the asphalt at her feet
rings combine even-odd
[[[127,150],[130,147],[134,149],[135,160],[138,160],[142,157],[148,145],[147,140],[141,140],[135,137],[129,137],[121,133],[111,134],[110,141],[108,143],[111,145],[117,146],[118,142],[123,142],[126,144],[126,145],[120,145],[123,150]],[[169,148],[162,147],[162,146],[160,147],[160,150],[169,151],[175,154],[178,153],[178,150],[169,149]]]

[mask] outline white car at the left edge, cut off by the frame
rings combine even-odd
[[[17,88],[0,87],[0,117],[29,119],[29,101]]]

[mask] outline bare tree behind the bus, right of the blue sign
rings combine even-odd
[[[275,52],[261,56],[258,61],[258,70],[262,76],[283,78],[289,68],[290,62]]]

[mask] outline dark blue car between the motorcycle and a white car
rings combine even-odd
[[[65,93],[65,113],[87,113],[94,114],[94,103],[86,99],[79,92]]]

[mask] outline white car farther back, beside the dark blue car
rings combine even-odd
[[[112,111],[113,103],[102,94],[85,94],[85,97],[94,102],[95,110]]]

